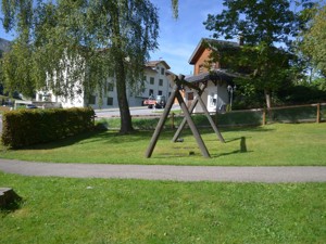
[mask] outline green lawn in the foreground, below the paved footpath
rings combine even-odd
[[[0,211],[2,244],[324,243],[326,183],[266,184],[23,177]]]

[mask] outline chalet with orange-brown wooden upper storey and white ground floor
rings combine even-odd
[[[218,47],[216,50],[216,47]],[[189,64],[193,65],[193,75],[186,77],[186,80],[192,84],[206,84],[206,89],[201,95],[209,112],[218,112],[225,110],[231,102],[234,91],[234,78],[236,74],[227,70],[220,62],[209,62],[213,51],[223,51],[223,49],[238,49],[238,42],[221,41],[202,38],[196,47],[189,59]],[[193,92],[186,89],[184,93],[188,104],[193,100]],[[203,112],[200,105],[197,105],[195,113]]]

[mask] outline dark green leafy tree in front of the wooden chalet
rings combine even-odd
[[[266,106],[271,107],[272,92],[284,86],[293,72],[290,63],[296,57],[289,47],[298,34],[298,18],[290,1],[226,0],[223,4],[226,9],[221,14],[209,14],[204,25],[214,31],[214,38],[240,38],[243,46],[224,62],[244,68],[249,76],[242,80],[249,80],[256,90],[263,89]]]

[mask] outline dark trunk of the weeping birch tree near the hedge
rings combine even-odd
[[[120,56],[116,62],[115,67],[116,75],[116,92],[117,92],[117,102],[121,115],[121,133],[129,133],[134,130],[131,116],[129,111],[129,104],[127,100],[127,89],[126,89],[126,74],[124,67],[124,61]]]

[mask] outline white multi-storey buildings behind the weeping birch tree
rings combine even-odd
[[[141,106],[142,101],[150,95],[165,95],[167,99],[171,92],[170,76],[173,74],[165,61],[150,61],[145,65],[145,80],[141,91],[135,91],[127,87],[127,98],[129,106]],[[76,86],[78,87],[78,86]],[[84,90],[76,88],[74,98],[65,98],[54,95],[52,92],[38,91],[36,102],[59,103],[62,107],[84,107],[91,106],[98,108],[115,108],[118,107],[117,93],[114,78],[109,77],[106,91],[103,92],[102,104],[100,104],[100,95],[95,91],[87,100]]]

